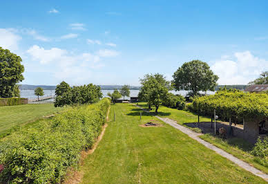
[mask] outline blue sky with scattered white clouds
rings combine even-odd
[[[200,59],[219,84],[268,70],[268,1],[1,1],[0,46],[21,84],[139,85]]]

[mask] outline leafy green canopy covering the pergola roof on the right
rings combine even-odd
[[[268,95],[242,91],[218,91],[215,95],[195,98],[192,107],[196,113],[211,116],[213,109],[223,118],[267,118]]]

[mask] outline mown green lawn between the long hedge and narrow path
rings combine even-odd
[[[142,113],[140,122],[140,111],[131,104],[111,106],[104,137],[84,160],[82,183],[265,183],[164,122],[138,126],[157,120]]]

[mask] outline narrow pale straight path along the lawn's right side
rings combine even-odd
[[[137,107],[139,107],[139,106],[137,106]],[[142,109],[142,107],[139,107],[139,108]],[[145,111],[145,109],[142,109],[142,110]],[[243,160],[240,160],[239,158],[236,158],[235,156],[228,154],[226,151],[223,151],[222,149],[220,149],[214,145],[211,145],[209,142],[202,140],[201,138],[199,138],[199,136],[202,134],[191,131],[191,129],[188,129],[182,125],[178,125],[177,122],[175,122],[174,120],[171,120],[169,118],[161,118],[159,116],[155,116],[155,117],[162,120],[163,122],[166,122],[167,124],[171,125],[175,129],[179,129],[184,134],[187,134],[189,137],[193,138],[194,140],[197,140],[205,147],[207,147],[213,151],[216,151],[217,154],[220,154],[221,156],[227,158],[228,160],[231,160],[233,163],[236,163],[237,165],[239,165],[243,169],[247,170],[248,172],[251,172],[252,174],[255,174],[256,176],[259,176],[260,178],[263,178],[265,181],[268,182],[268,175],[267,174],[260,171],[259,169],[256,169],[255,167],[252,167],[248,163],[245,163]]]

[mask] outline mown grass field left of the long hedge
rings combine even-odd
[[[0,107],[0,138],[12,129],[58,111],[62,111],[62,108],[56,108],[52,103]]]

